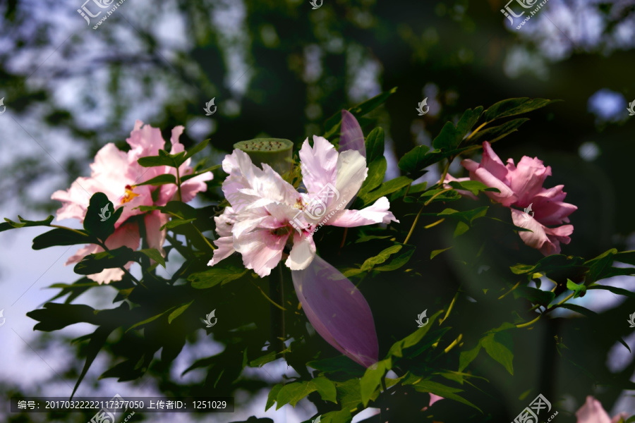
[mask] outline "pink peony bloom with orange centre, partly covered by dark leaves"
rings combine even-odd
[[[181,133],[183,133],[183,126],[177,126],[172,130],[171,154],[183,151],[183,145],[179,142]],[[175,197],[176,185],[155,187],[135,184],[150,180],[163,173],[171,173],[176,176],[176,169],[168,166],[145,168],[137,163],[141,157],[156,156],[159,154],[159,149],[164,148],[165,141],[159,129],[152,128],[150,125],[144,126],[143,122],[136,121],[135,128],[126,142],[131,147],[127,153],[117,149],[114,144],[104,145],[97,152],[95,162],[90,165],[89,178],[77,178],[68,190],[59,190],[53,193],[51,198],[62,203],[62,207],[57,211],[57,220],[74,218],[83,222],[90,197],[96,192],[103,192],[113,202],[115,209],[123,207],[123,212],[115,223],[115,231],[106,241],[107,247],[114,249],[126,246],[136,250],[140,241],[139,227],[137,221],[131,221],[129,218],[143,215],[148,246],[156,248],[165,256],[163,244],[166,231],[160,231],[159,228],[167,223],[167,215],[158,211],[141,212],[138,207],[164,206]],[[191,159],[188,159],[179,168],[181,176],[193,172],[190,161]],[[212,173],[205,173],[186,180],[181,184],[181,194],[183,195],[181,200],[189,202],[197,192],[207,190],[205,181],[212,179],[212,177]],[[66,264],[80,262],[83,257],[101,251],[103,249],[98,245],[87,245],[68,259]],[[131,263],[126,264],[126,268],[129,268],[130,265]],[[123,270],[121,269],[105,269],[99,274],[89,275],[88,278],[99,283],[108,283],[119,281],[122,276]]]

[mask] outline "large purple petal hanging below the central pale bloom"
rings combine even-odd
[[[377,362],[375,321],[362,293],[320,256],[291,271],[296,295],[317,333],[364,367]]]

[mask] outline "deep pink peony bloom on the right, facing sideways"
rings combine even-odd
[[[562,191],[564,185],[543,188],[545,179],[551,175],[551,167],[545,167],[543,161],[524,156],[518,166],[514,165],[512,159],[503,164],[490,143],[483,142],[483,159],[480,163],[465,159],[461,164],[470,172],[472,180],[500,190],[485,192],[492,200],[505,207],[514,207],[514,224],[531,230],[519,233],[526,245],[540,250],[543,255],[552,255],[560,253],[560,243],[568,244],[571,241],[569,235],[574,228],[562,223],[569,223],[568,216],[577,207],[564,202],[567,196]],[[547,225],[562,226],[548,228]]]

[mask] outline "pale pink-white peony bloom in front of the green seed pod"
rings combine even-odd
[[[292,240],[285,264],[291,270],[306,269],[315,257],[310,235],[318,225],[352,227],[397,221],[388,211],[386,197],[362,210],[345,209],[366,178],[365,159],[353,149],[338,153],[323,137],[314,136],[313,142],[312,148],[305,140],[300,150],[307,193],[296,191],[269,165],[255,166],[239,149],[225,157],[223,170],[229,176],[223,192],[231,207],[215,218],[218,249],[208,265],[237,251],[247,269],[264,277],[282,260],[284,247]]]

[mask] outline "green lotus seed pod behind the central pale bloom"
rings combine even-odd
[[[262,167],[263,163],[271,166],[281,175],[291,170],[293,163],[294,143],[282,138],[255,138],[240,141],[234,148],[246,152],[253,164]]]

